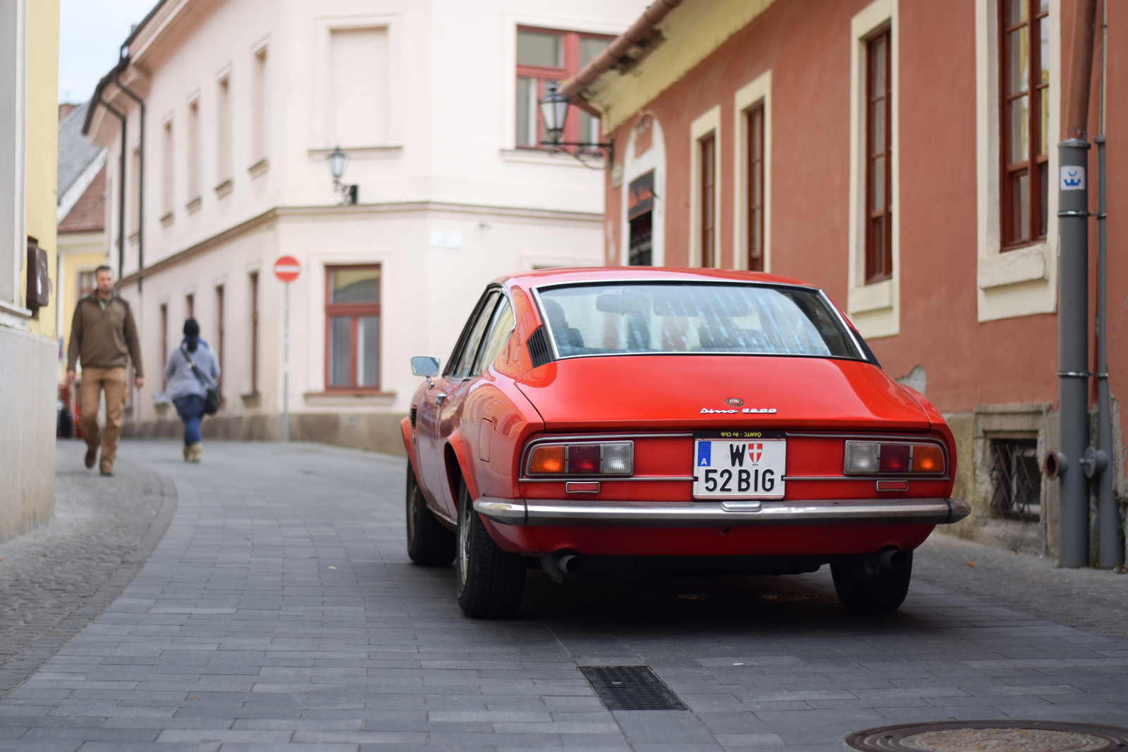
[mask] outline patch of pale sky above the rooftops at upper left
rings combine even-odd
[[[157,0],[62,0],[59,20],[59,101],[87,101],[98,79]]]

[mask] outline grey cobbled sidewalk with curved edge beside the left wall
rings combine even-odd
[[[0,545],[0,697],[113,603],[176,511],[171,479],[129,460],[103,478],[56,444],[55,516]]]

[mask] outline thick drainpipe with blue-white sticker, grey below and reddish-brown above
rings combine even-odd
[[[1077,0],[1069,61],[1066,140],[1058,144],[1058,419],[1065,462],[1058,477],[1061,508],[1058,564],[1089,566],[1089,89],[1093,78],[1096,0]],[[1069,168],[1074,168],[1072,171]]]

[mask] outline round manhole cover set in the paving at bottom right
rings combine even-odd
[[[1049,720],[963,720],[867,728],[843,742],[863,752],[1103,752],[1128,749],[1128,728]]]

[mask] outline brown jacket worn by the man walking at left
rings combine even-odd
[[[73,371],[78,360],[82,361],[82,368],[125,368],[126,360],[132,357],[135,375],[143,377],[141,343],[130,304],[114,295],[103,311],[97,295],[95,292],[83,298],[74,308],[67,370]]]

